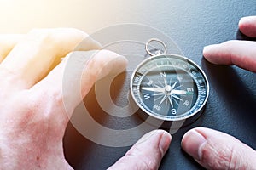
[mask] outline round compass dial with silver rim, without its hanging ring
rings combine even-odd
[[[194,116],[207,102],[207,77],[190,59],[174,54],[150,57],[131,77],[131,95],[149,116],[179,121]]]

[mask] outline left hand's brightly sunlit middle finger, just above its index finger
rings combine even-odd
[[[76,29],[32,31],[3,60],[1,69],[14,77],[15,87],[30,88],[47,75],[56,60],[59,62],[82,41],[82,50],[100,48],[98,42]]]

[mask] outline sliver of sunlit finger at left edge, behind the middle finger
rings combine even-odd
[[[2,34],[0,35],[0,63],[9,54],[15,44],[24,37],[22,34]]]

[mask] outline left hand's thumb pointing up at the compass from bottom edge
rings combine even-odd
[[[158,169],[162,157],[171,143],[171,135],[164,130],[145,134],[109,170],[113,169]]]

